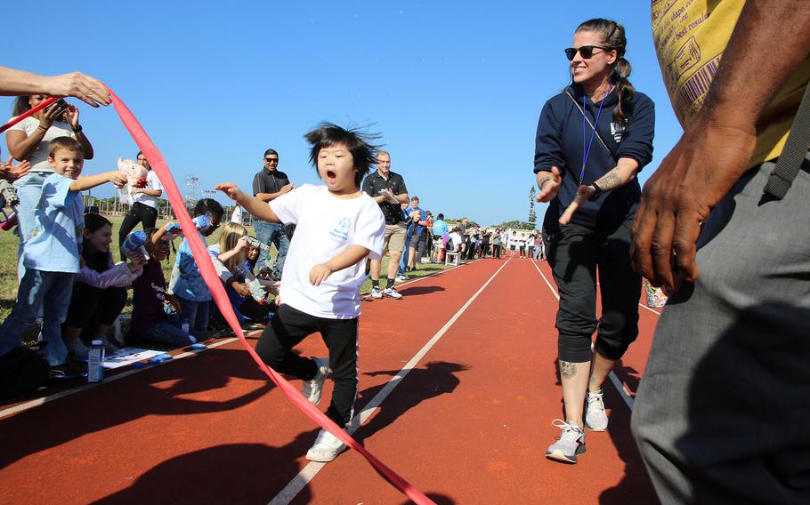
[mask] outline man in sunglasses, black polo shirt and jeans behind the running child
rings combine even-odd
[[[270,202],[285,193],[290,189],[295,188],[290,184],[287,174],[279,172],[279,153],[274,149],[267,149],[264,151],[264,168],[261,172],[256,173],[253,178],[253,195],[262,200],[263,202]],[[256,239],[263,244],[275,244],[276,250],[279,255],[276,257],[276,266],[273,269],[273,277],[281,278],[281,272],[284,269],[284,260],[287,258],[287,250],[289,247],[289,238],[284,233],[284,226],[281,223],[271,223],[263,220],[253,220],[253,228],[256,230]],[[266,260],[263,251],[259,252],[259,259],[256,265],[259,267],[264,266]]]

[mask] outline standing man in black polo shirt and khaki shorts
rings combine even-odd
[[[380,290],[380,261],[371,260],[371,297],[387,296],[398,300],[402,298],[393,287],[400,266],[400,257],[405,248],[405,216],[401,204],[408,204],[408,188],[399,173],[391,172],[391,155],[386,151],[377,151],[377,172],[369,173],[363,180],[363,191],[377,201],[385,215],[385,250],[390,252],[388,259],[388,282]]]

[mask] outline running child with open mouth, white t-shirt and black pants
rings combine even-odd
[[[383,251],[385,217],[377,202],[360,191],[360,181],[375,163],[374,146],[358,132],[334,124],[305,136],[312,145],[310,160],[325,186],[304,184],[269,204],[232,183],[217,186],[257,219],[296,223],[281,277],[279,307],[264,328],[256,352],[279,373],[304,381],[302,393],[320,402],[323,382],[335,382],[327,415],[346,427],[357,396],[357,329],[363,260],[379,260]],[[320,332],[329,349],[328,360],[298,356],[293,348]],[[311,461],[332,461],[345,449],[340,440],[321,429],[306,453]]]

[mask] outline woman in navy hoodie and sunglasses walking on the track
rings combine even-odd
[[[655,120],[652,100],[628,81],[626,45],[615,21],[579,25],[565,50],[572,83],[539,118],[534,172],[538,200],[550,203],[543,228],[560,292],[565,421],[555,421],[563,434],[546,453],[555,461],[575,463],[585,452],[584,429],[607,428],[603,381],[638,334],[641,277],[630,265],[630,228],[641,196],[636,174],[652,159]]]

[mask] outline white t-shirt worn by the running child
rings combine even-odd
[[[373,260],[382,258],[385,216],[377,202],[365,193],[344,199],[326,186],[304,184],[272,200],[270,208],[284,224],[296,224],[281,275],[281,303],[315,317],[359,317],[364,261],[333,272],[318,286],[310,283],[310,272],[350,245],[369,249]]]

